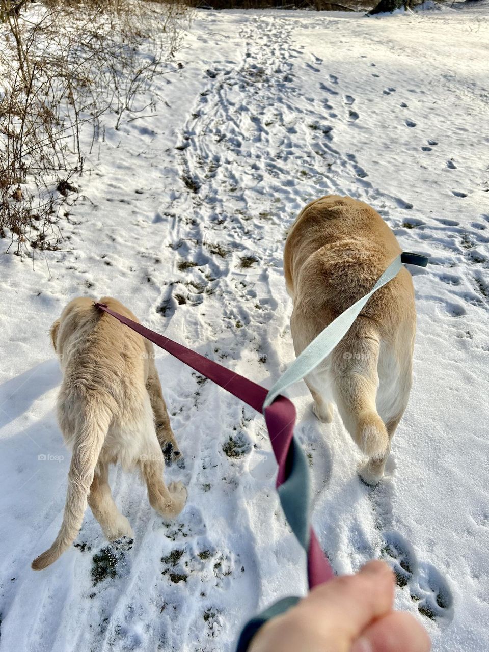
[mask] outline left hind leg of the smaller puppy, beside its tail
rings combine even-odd
[[[129,537],[134,533],[132,527],[121,512],[117,509],[109,486],[109,465],[107,462],[98,462],[93,481],[90,486],[88,504],[96,520],[100,523],[104,535],[109,541]]]

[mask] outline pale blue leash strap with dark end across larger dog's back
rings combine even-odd
[[[353,321],[359,316],[363,306],[367,303],[368,299],[379,288],[398,274],[402,267],[402,263],[409,263],[411,265],[418,265],[419,267],[426,267],[428,265],[428,258],[420,254],[411,254],[403,252],[397,258],[394,258],[392,263],[387,267],[385,272],[379,278],[378,282],[370,290],[368,294],[356,301],[353,305],[349,306],[342,314],[334,319],[327,327],[319,333],[319,335],[312,340],[309,346],[306,346],[304,351],[299,355],[289,368],[280,376],[278,381],[273,385],[272,389],[265,398],[263,404],[263,413],[265,408],[271,405],[279,394],[282,394],[287,387],[302,380],[312,370],[321,363],[340,340],[348,333],[349,328]]]

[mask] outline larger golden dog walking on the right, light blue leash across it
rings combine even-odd
[[[367,204],[338,195],[309,203],[289,230],[284,251],[296,355],[368,293],[400,252],[394,233]],[[318,419],[331,422],[334,400],[349,434],[368,456],[359,471],[367,484],[383,476],[408,404],[415,329],[413,282],[403,267],[304,379]]]

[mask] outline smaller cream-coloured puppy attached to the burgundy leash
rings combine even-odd
[[[138,319],[123,304],[104,297],[112,310]],[[98,310],[92,299],[71,301],[51,328],[63,382],[57,415],[72,451],[63,524],[51,548],[32,563],[35,571],[56,561],[72,544],[90,505],[109,541],[133,537],[115,506],[109,465],[137,467],[151,506],[165,518],[181,512],[186,489],[163,481],[165,458],[180,456],[156,372],[153,344]]]

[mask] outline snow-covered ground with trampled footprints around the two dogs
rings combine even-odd
[[[119,131],[106,117],[62,250],[0,256],[2,652],[230,652],[247,617],[304,591],[263,419],[163,352],[185,511],[165,526],[114,469],[132,546],[108,546],[87,511],[72,550],[30,563],[65,502],[48,328],[67,301],[113,295],[271,386],[293,359],[286,229],[329,193],[373,205],[431,264],[413,269],[414,386],[378,488],[338,415],[320,424],[303,383],[290,393],[314,526],[339,573],[393,563],[434,650],[488,649],[488,14],[199,11],[156,113]]]

